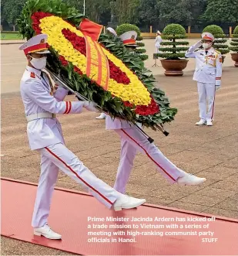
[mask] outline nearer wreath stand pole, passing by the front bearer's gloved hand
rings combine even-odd
[[[77,91],[72,90],[72,89],[71,89],[67,84],[65,84],[59,77],[57,77],[54,73],[52,73],[52,71],[50,71],[50,70],[47,69],[47,68],[45,68],[45,70],[47,70],[47,72],[48,72],[52,77],[54,77],[55,80],[58,80],[59,83],[62,84],[63,87],[65,87],[65,89],[70,90],[70,91],[71,91],[73,94],[75,94],[75,96],[78,97],[80,100],[82,100],[82,101],[89,101],[89,99],[86,98],[86,97],[84,97],[84,96],[82,96],[82,94],[79,94]],[[108,114],[108,113],[106,113],[105,111],[102,111],[102,108],[101,108],[99,105],[97,105],[96,108],[97,108],[99,111],[101,111],[102,113]],[[126,120],[126,118],[125,118],[125,120]],[[126,120],[126,121],[128,121],[128,120]],[[154,142],[153,138],[149,137],[149,135],[147,135],[146,132],[143,131],[142,128],[140,128],[139,125],[137,125],[135,121],[129,121],[129,122],[132,122],[132,124],[135,125],[135,127],[142,133],[142,135],[144,135],[144,136],[148,139],[149,143],[153,143],[153,142]]]

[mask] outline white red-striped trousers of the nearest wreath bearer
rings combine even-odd
[[[41,174],[32,217],[32,227],[42,227],[47,224],[52,193],[59,169],[77,183],[88,188],[89,193],[108,208],[112,207],[112,204],[121,196],[115,189],[112,189],[111,186],[89,171],[79,158],[62,143],[40,148],[38,151],[42,157]]]

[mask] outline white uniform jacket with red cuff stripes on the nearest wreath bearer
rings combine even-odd
[[[21,80],[22,101],[25,115],[49,112],[71,114],[82,112],[82,101],[62,101],[68,90],[59,87],[53,92],[46,75],[41,70],[26,67]],[[40,118],[28,121],[27,134],[32,150],[45,148],[56,143],[64,143],[62,128],[57,118]]]

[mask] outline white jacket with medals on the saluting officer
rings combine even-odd
[[[196,58],[196,69],[193,80],[205,84],[216,84],[220,87],[222,77],[222,56],[220,52],[209,49],[206,53],[205,49],[195,51],[199,43],[191,46],[186,52],[187,58]]]

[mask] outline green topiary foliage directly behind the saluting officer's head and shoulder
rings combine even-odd
[[[223,62],[226,58],[225,54],[230,52],[229,46],[226,44],[226,35],[220,26],[210,25],[203,29],[203,32],[210,32],[215,37],[213,48],[222,54]]]

